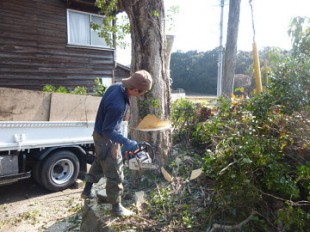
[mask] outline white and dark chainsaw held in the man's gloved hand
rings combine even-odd
[[[139,149],[134,152],[125,152],[124,163],[131,170],[159,170],[159,162],[151,144],[141,142]]]

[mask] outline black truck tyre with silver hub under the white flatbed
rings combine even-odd
[[[42,162],[41,184],[50,191],[70,187],[80,172],[79,160],[71,151],[58,151]]]

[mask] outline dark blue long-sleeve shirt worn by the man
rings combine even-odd
[[[122,84],[111,85],[103,95],[95,121],[95,131],[113,142],[125,144],[121,123],[129,106],[129,96]]]

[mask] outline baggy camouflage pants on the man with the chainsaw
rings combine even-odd
[[[120,144],[112,143],[96,132],[93,133],[93,139],[96,158],[86,175],[86,181],[98,183],[102,177],[106,177],[107,200],[111,204],[119,203],[121,202],[124,189],[123,160]]]

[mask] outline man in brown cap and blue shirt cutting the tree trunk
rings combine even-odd
[[[122,84],[110,86],[102,97],[96,116],[93,139],[96,158],[88,174],[81,194],[82,198],[93,198],[91,188],[101,177],[107,178],[107,200],[112,204],[111,213],[115,216],[130,216],[133,212],[123,207],[123,163],[120,144],[125,151],[137,150],[134,140],[121,134],[121,123],[129,106],[129,97],[142,96],[152,88],[152,77],[145,71],[135,72]]]

